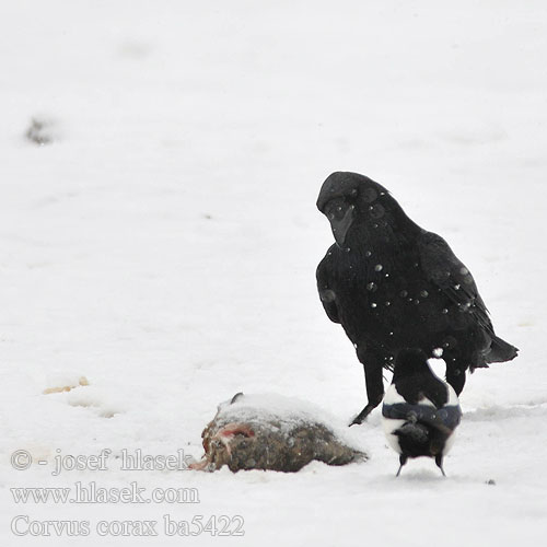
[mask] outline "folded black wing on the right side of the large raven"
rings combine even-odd
[[[423,232],[418,240],[418,251],[428,280],[437,284],[463,312],[473,314],[482,328],[493,334],[488,310],[475,280],[449,244],[440,235]]]

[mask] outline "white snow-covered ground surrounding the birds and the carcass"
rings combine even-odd
[[[244,536],[209,531],[191,545],[539,545],[545,2],[21,0],[0,11],[2,545],[175,545],[165,514],[244,519]],[[51,143],[24,137],[33,118]],[[119,470],[123,449],[198,458],[217,404],[238,391],[295,396],[340,420],[362,408],[362,368],[315,290],[331,243],[315,199],[337,170],[379,181],[442,234],[521,349],[468,379],[449,477],[414,461],[395,479],[379,410],[349,430],[371,456],[362,464]],[[90,385],[43,394],[80,376]],[[102,449],[107,470],[51,475],[56,455]],[[16,450],[30,469],[12,467]],[[78,481],[197,488],[200,502],[15,503],[10,491]],[[18,515],[86,520],[91,533],[48,537],[35,524],[42,535],[18,537]],[[159,535],[96,533],[138,520],[159,521]]]

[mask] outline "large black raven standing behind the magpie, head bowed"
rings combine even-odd
[[[442,356],[457,394],[467,369],[516,357],[517,349],[496,336],[469,270],[383,186],[357,173],[333,173],[317,208],[336,240],[317,267],[319,296],[364,366],[368,404],[352,423],[382,401],[382,369],[393,369],[401,348]]]

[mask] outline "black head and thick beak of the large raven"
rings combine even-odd
[[[358,173],[336,172],[323,183],[317,208],[330,222],[338,246],[344,247],[352,226],[385,223],[386,212],[400,210],[386,188]],[[403,211],[400,211],[403,212]],[[383,220],[382,220],[383,219]]]

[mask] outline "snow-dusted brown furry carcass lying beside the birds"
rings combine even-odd
[[[279,396],[244,396],[219,406],[206,427],[198,470],[271,469],[298,472],[313,459],[346,465],[368,456],[342,441],[335,429],[314,418],[321,409],[299,408]],[[342,432],[344,433],[344,432]]]

